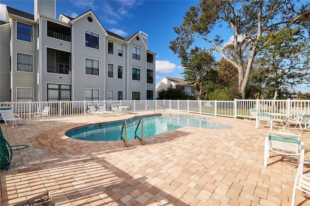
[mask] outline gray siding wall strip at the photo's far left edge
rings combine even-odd
[[[11,101],[10,95],[10,24],[0,25],[0,102]]]

